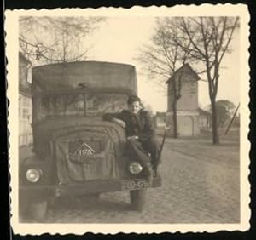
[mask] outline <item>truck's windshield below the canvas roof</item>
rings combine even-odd
[[[127,106],[126,94],[70,94],[38,98],[37,120],[59,116],[102,116]]]

